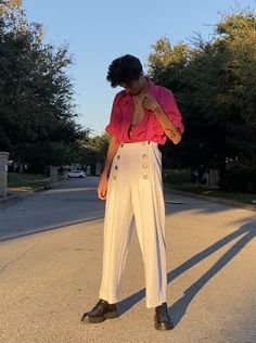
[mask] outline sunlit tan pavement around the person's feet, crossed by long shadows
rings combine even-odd
[[[158,332],[144,304],[133,234],[118,319],[82,325],[98,301],[103,223],[0,243],[0,342],[255,342],[256,220],[242,208],[168,193],[168,305],[175,329]],[[136,233],[136,232],[133,232]]]

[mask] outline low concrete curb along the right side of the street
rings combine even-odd
[[[169,192],[171,192],[174,194],[177,194],[177,195],[183,195],[183,196],[189,196],[189,198],[206,200],[206,201],[209,201],[209,202],[213,202],[213,203],[218,203],[218,204],[226,205],[226,206],[239,207],[239,208],[244,208],[244,209],[256,212],[256,206],[255,205],[249,205],[249,204],[241,203],[241,202],[233,201],[233,200],[227,200],[227,199],[221,199],[221,198],[216,198],[216,196],[207,196],[207,195],[194,194],[194,193],[179,191],[179,190],[171,189],[171,188],[164,188],[164,190],[165,191],[169,191]]]

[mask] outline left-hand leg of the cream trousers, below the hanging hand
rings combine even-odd
[[[110,304],[117,302],[130,239],[133,213],[130,189],[119,175],[112,173],[108,180],[104,220],[103,268],[100,298]]]

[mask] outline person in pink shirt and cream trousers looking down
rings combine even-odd
[[[145,305],[155,308],[157,330],[174,328],[166,292],[165,203],[158,144],[181,141],[183,125],[172,92],[143,74],[138,58],[126,54],[108,66],[106,79],[124,88],[113,101],[106,131],[111,141],[98,185],[106,200],[103,269],[97,305],[84,322],[118,317],[117,296],[133,226],[145,274]]]

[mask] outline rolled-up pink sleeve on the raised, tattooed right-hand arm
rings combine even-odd
[[[182,117],[172,92],[167,88],[162,88],[157,98],[159,105],[168,118],[180,130],[180,134],[183,134],[184,126],[182,124]]]

